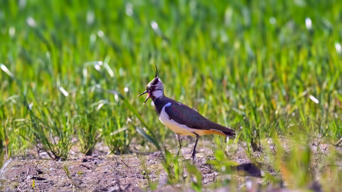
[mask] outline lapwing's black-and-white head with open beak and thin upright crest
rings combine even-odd
[[[154,68],[153,68],[154,69]],[[158,70],[157,70],[157,66],[155,69],[155,78],[149,82],[146,86],[146,91],[144,91],[143,93],[141,93],[138,97],[140,97],[141,95],[148,93],[147,98],[144,102],[144,104],[146,103],[146,101],[151,98],[152,100],[155,100],[161,96],[164,95],[164,84],[163,82],[160,80],[160,78],[158,77]]]

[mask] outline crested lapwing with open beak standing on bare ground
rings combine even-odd
[[[155,69],[155,78],[147,84],[146,90],[138,97],[145,93],[148,93],[148,95],[144,104],[149,98],[152,99],[160,122],[177,135],[180,150],[182,148],[182,135],[196,136],[196,142],[192,152],[193,162],[195,162],[196,146],[201,135],[218,134],[225,137],[235,137],[233,129],[215,123],[203,117],[197,110],[166,97],[164,95],[164,84],[158,77],[157,66]]]

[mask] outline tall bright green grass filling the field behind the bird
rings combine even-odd
[[[168,97],[235,129],[248,154],[274,133],[305,137],[285,161],[302,170],[309,142],[342,137],[341,1],[20,2],[0,2],[5,159],[32,142],[66,159],[72,137],[125,153],[136,126],[162,143],[173,133],[136,98],[155,63]]]

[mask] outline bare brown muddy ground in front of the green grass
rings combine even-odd
[[[170,143],[167,148],[176,152],[176,146]],[[183,138],[182,154],[190,159],[194,138]],[[322,146],[328,150],[328,145]],[[203,186],[213,185],[220,177],[214,167],[206,164],[213,159],[213,146],[208,139],[200,139],[197,147],[197,168],[203,177]],[[312,150],[315,153],[315,147]],[[7,161],[1,170],[2,186],[4,191],[145,191],[148,187],[146,173],[143,171],[141,161],[145,161],[152,181],[158,181],[158,191],[191,191],[188,184],[167,184],[167,175],[161,165],[160,152],[140,152],[151,150],[153,146],[131,145],[131,153],[121,156],[106,154],[109,149],[99,143],[93,156],[83,156],[79,148],[74,146],[67,161],[49,160],[46,153],[34,152],[26,159]],[[173,150],[172,150],[173,149]],[[317,149],[317,147],[316,147]],[[258,154],[256,154],[258,155]],[[39,158],[38,158],[39,157]],[[238,145],[232,161],[244,163],[250,161],[244,148]],[[273,170],[266,170],[272,173]],[[238,176],[238,187],[247,187],[263,181],[262,178]],[[32,187],[34,186],[34,187]],[[205,188],[213,189],[212,187]],[[216,191],[226,191],[221,188]],[[287,191],[282,189],[283,191]]]

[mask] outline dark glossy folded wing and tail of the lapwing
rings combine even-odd
[[[168,107],[165,107],[165,112],[169,115],[170,119],[173,119],[177,123],[186,125],[193,129],[216,129],[222,131],[229,137],[234,137],[234,130],[224,127],[218,123],[212,122],[209,119],[203,117],[197,110],[188,107],[179,102],[172,102]]]

